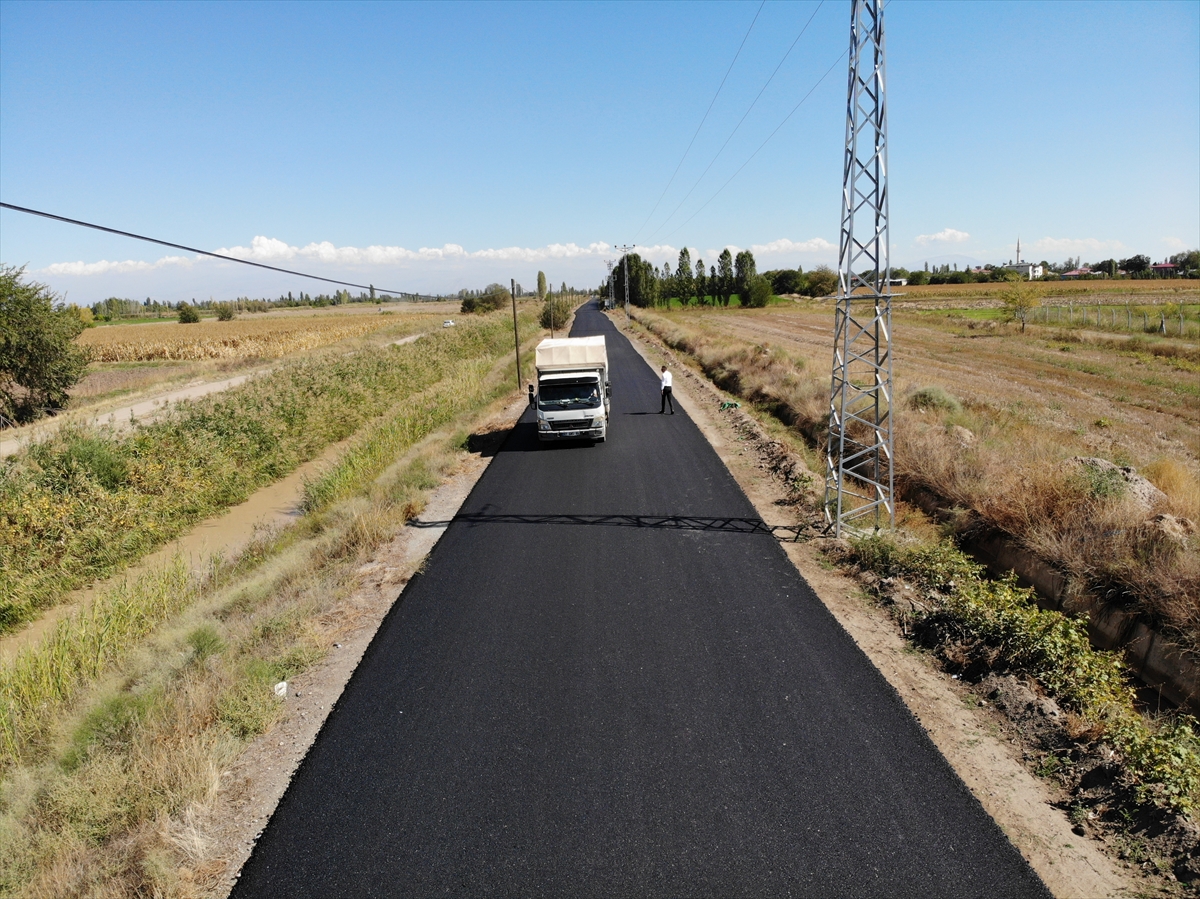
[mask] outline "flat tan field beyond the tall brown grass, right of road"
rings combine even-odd
[[[1027,418],[1064,446],[1126,465],[1140,467],[1164,455],[1200,463],[1200,349],[1040,324],[1030,324],[1022,336],[1016,324],[982,328],[971,312],[894,310],[898,394],[942,386],[961,400]],[[832,364],[829,306],[716,314],[719,323],[708,310],[672,318],[751,343],[770,342],[822,374]]]

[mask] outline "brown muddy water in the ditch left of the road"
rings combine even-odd
[[[350,438],[353,439],[353,438]],[[182,556],[193,569],[203,568],[215,555],[234,558],[241,552],[259,528],[286,527],[300,517],[300,501],[304,498],[305,480],[311,480],[330,465],[349,445],[350,440],[335,443],[317,459],[296,468],[292,474],[270,484],[246,502],[221,515],[202,521],[162,549],[142,558],[120,575],[101,581],[86,589],[76,591],[70,599],[46,611],[24,629],[0,637],[0,661],[11,659],[18,649],[36,642],[49,633],[62,618],[85,606],[92,597],[125,579],[169,563],[176,555]]]

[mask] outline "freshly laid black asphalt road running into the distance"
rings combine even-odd
[[[526,414],[234,895],[1049,895],[581,311],[598,332],[607,443],[542,449]]]

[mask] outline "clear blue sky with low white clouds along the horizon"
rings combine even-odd
[[[0,198],[397,289],[592,286],[617,242],[834,263],[850,4],[760,6],[4,0]],[[894,264],[1200,245],[1200,4],[886,26]],[[8,210],[0,258],[78,302],[323,289]]]

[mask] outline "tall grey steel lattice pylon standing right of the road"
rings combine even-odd
[[[826,522],[892,527],[892,264],[883,2],[853,0]]]

